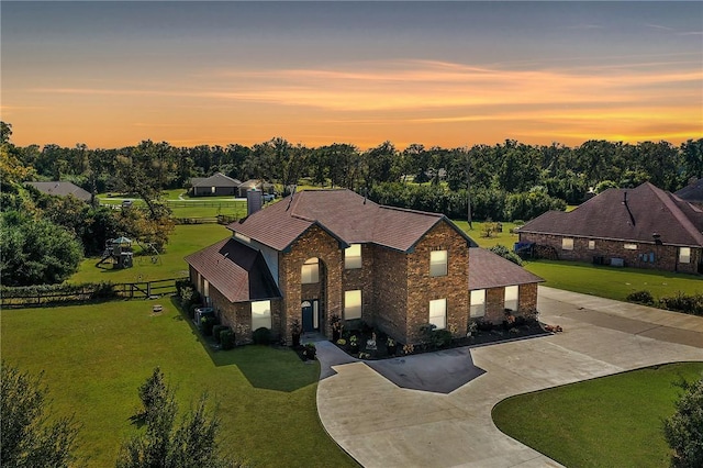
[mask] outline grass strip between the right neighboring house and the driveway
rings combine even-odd
[[[678,291],[696,293],[703,280],[693,275],[650,271],[639,268],[613,268],[577,261],[528,261],[525,268],[546,279],[544,286],[624,301],[627,294],[644,289],[659,299]]]

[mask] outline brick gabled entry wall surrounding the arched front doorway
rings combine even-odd
[[[344,252],[339,248],[337,239],[327,234],[317,225],[311,226],[300,236],[290,248],[290,252],[279,254],[279,289],[283,294],[283,304],[280,311],[280,323],[283,330],[277,331],[292,343],[291,326],[294,320],[302,325],[300,303],[301,296],[301,267],[306,259],[317,257],[324,264],[325,303],[320,304],[322,312],[321,328],[330,336],[330,316],[342,316],[344,292],[342,289],[342,269],[344,268]],[[309,298],[305,298],[309,299]]]

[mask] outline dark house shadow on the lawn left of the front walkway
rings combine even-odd
[[[287,347],[246,345],[221,350],[213,338],[203,337],[193,321],[180,308],[180,301],[171,297],[171,304],[179,311],[175,320],[190,326],[196,339],[216,367],[236,366],[252,387],[258,389],[292,392],[317,381],[317,361],[302,363],[295,352]],[[313,364],[314,363],[314,364]]]

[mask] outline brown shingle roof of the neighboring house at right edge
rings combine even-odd
[[[625,203],[625,193],[627,203]],[[649,182],[609,189],[576,210],[550,211],[520,229],[525,233],[703,246],[703,211]]]

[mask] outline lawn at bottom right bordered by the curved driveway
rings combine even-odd
[[[663,467],[661,421],[674,412],[680,376],[703,363],[673,364],[517,395],[493,408],[495,425],[568,467]]]

